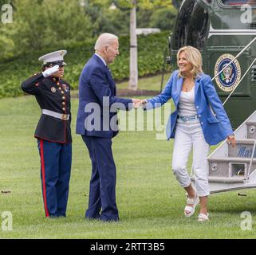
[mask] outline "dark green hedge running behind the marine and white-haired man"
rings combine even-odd
[[[168,33],[156,33],[138,37],[138,66],[139,76],[159,73],[163,68],[163,52],[167,49]],[[78,87],[78,79],[85,62],[94,52],[94,39],[73,43],[69,47],[65,61],[65,80],[68,80],[73,89]],[[0,98],[22,95],[20,85],[22,80],[41,71],[38,57],[57,48],[41,52],[31,52],[0,62]],[[129,37],[120,37],[120,56],[110,66],[116,80],[128,79],[129,76]]]

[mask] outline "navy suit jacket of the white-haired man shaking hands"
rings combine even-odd
[[[108,102],[109,104],[106,104]],[[94,109],[90,109],[90,105],[94,106]],[[116,84],[110,71],[100,57],[93,54],[79,79],[77,134],[112,138],[118,132],[117,109],[119,108],[131,109],[132,100],[116,97]],[[100,126],[92,128],[92,124],[95,123],[100,123]]]

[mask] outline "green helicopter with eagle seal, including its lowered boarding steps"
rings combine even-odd
[[[256,188],[256,0],[183,0],[168,39],[171,66],[184,45],[202,53],[234,129],[207,158],[211,194]]]

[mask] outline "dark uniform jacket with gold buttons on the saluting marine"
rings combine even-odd
[[[59,120],[42,114],[34,136],[53,143],[71,143],[69,83],[54,77],[45,78],[42,73],[37,73],[22,82],[22,90],[34,95],[41,109],[69,114],[69,120]]]

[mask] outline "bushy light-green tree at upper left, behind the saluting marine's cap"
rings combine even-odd
[[[5,57],[60,49],[92,36],[91,22],[79,0],[12,0],[12,4],[13,24],[0,27],[0,49],[6,47]]]

